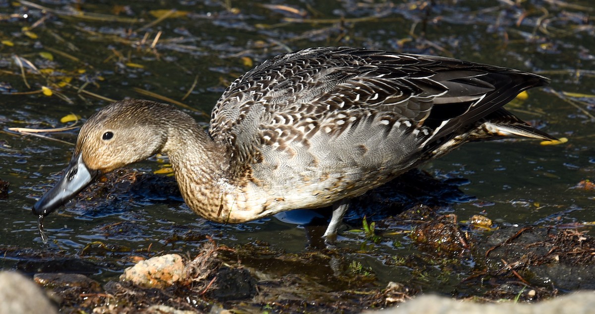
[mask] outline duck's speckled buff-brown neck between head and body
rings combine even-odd
[[[189,118],[189,119],[188,119]],[[168,127],[162,152],[170,158],[186,204],[209,220],[218,220],[221,198],[230,191],[230,158],[190,116]]]

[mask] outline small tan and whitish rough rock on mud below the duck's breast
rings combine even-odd
[[[126,268],[120,280],[145,288],[165,288],[186,278],[186,268],[180,255],[168,254],[140,261]]]

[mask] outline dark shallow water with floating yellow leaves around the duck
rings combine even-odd
[[[283,4],[296,8],[297,13],[281,4],[263,7],[248,1],[231,2],[233,8],[217,1],[164,1],[152,7],[143,1],[130,2],[126,7],[104,2],[81,4],[78,8],[93,14],[119,14],[135,23],[76,17],[70,11],[70,2],[52,3],[42,4],[51,9],[44,13],[39,8],[14,7],[0,1],[0,91],[5,92],[0,96],[0,179],[10,182],[8,199],[0,199],[4,217],[0,221],[0,245],[68,256],[88,253],[83,249],[93,241],[132,252],[192,252],[204,237],[184,241],[176,240],[176,236],[195,233],[211,235],[230,246],[266,241],[272,248],[287,252],[309,250],[306,229],[299,225],[275,217],[240,225],[210,223],[188,210],[179,197],[167,195],[161,199],[114,196],[101,208],[70,205],[60,214],[46,217],[49,243],[44,246],[37,233],[37,217],[30,208],[68,163],[73,145],[16,134],[8,128],[60,127],[64,126],[60,123],[62,116],[76,113],[88,118],[109,103],[80,93],[80,87],[111,99],[151,99],[134,88],[152,91],[187,104],[196,109],[186,110],[188,113],[200,122],[208,122],[208,113],[224,88],[252,66],[287,49],[330,45],[453,56],[552,78],[550,87],[531,90],[527,100],[509,108],[521,118],[543,126],[544,131],[567,137],[568,143],[471,143],[431,161],[423,169],[437,179],[468,181],[460,189],[471,200],[453,202],[446,208],[459,220],[483,214],[500,226],[595,221],[595,192],[575,188],[582,180],[594,179],[595,101],[576,97],[569,99],[575,102],[573,105],[556,96],[562,91],[595,94],[594,72],[590,71],[594,68],[595,30],[584,8],[540,1],[523,2],[523,8],[494,6],[494,1],[444,2],[427,8],[422,8],[425,2],[321,1],[312,7],[300,1]],[[572,4],[591,7],[589,1]],[[183,16],[148,25],[156,20],[150,10],[172,8]],[[317,21],[302,23],[300,12]],[[27,18],[23,18],[25,14]],[[522,14],[527,16],[521,21]],[[369,18],[357,20],[364,17]],[[33,35],[23,31],[23,27],[33,27],[40,20],[39,26],[30,29]],[[516,26],[518,21],[520,25]],[[547,23],[547,28],[537,23]],[[410,30],[414,35],[409,34]],[[159,31],[159,40],[151,47]],[[51,53],[53,60],[40,55],[42,52]],[[37,69],[54,72],[41,75],[26,68],[28,88],[15,55],[33,62]],[[62,81],[73,87],[51,85]],[[43,85],[51,85],[69,101],[56,94],[15,94],[40,90]],[[73,143],[76,134],[74,130],[48,136]],[[159,163],[145,161],[134,167],[151,172],[159,169]],[[110,230],[114,224],[121,230]],[[580,230],[592,233],[593,227]],[[356,233],[344,232],[342,236],[340,247],[359,248],[364,242]],[[394,241],[403,246],[395,247]],[[377,277],[375,283],[380,286],[388,281],[403,282],[411,277],[408,269],[391,267],[384,258],[415,252],[416,248],[408,243],[405,234],[386,235],[379,245],[346,253],[345,258],[372,269]],[[122,259],[114,252],[101,256],[108,261]],[[0,269],[15,267],[16,259],[0,260]],[[118,275],[122,267],[118,265],[106,266],[98,274]],[[449,293],[451,285],[448,281],[428,282],[424,287],[425,291]]]

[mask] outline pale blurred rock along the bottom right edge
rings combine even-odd
[[[440,314],[558,314],[593,313],[595,309],[595,291],[581,291],[556,297],[544,302],[533,304],[528,303],[474,303],[461,300],[454,300],[449,297],[424,295],[415,297],[413,300],[400,303],[398,307],[380,311],[365,311],[364,313],[378,314],[419,314],[419,313],[440,313]]]

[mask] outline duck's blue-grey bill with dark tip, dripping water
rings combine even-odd
[[[64,171],[64,176],[58,183],[46,192],[33,205],[33,214],[48,215],[60,205],[77,195],[89,183],[93,182],[100,172],[98,170],[89,170],[83,162],[82,154],[73,155],[68,167]]]

